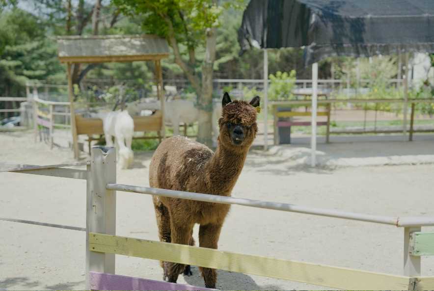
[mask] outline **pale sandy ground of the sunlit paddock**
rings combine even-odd
[[[268,154],[251,151],[233,196],[349,212],[434,216],[433,163],[359,166],[354,162],[351,167],[343,167],[345,164],[325,162],[312,169],[305,164],[305,147],[277,147]],[[1,133],[0,149],[3,163],[72,161],[70,150],[50,150],[44,143],[35,144],[31,133]],[[399,138],[380,142],[344,139],[319,144],[318,150],[328,157],[327,161],[392,156],[424,161],[434,157],[434,137],[419,137],[412,143]],[[136,154],[134,169],[118,170],[118,183],[148,185],[151,155]],[[82,180],[0,173],[0,217],[84,227],[85,191]],[[118,192],[116,207],[117,235],[157,239],[150,196]],[[85,288],[83,232],[0,221],[0,234],[0,290]],[[197,238],[197,228],[194,235]],[[403,268],[402,229],[242,206],[232,207],[219,249],[392,274],[402,274]],[[117,256],[116,272],[162,279],[158,262],[152,260]],[[193,273],[180,276],[178,282],[204,286],[197,267],[193,267]],[[422,274],[434,275],[434,258],[422,259]],[[218,271],[217,288],[329,289],[226,271]]]

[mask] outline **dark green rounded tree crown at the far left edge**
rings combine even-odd
[[[28,80],[50,80],[62,72],[54,41],[44,25],[19,8],[0,14],[0,95],[24,96]]]

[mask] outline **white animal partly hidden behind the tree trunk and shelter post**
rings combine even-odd
[[[151,101],[145,103],[134,103],[132,106],[134,110],[160,110],[160,101]],[[131,109],[133,110],[133,108]],[[213,103],[213,132],[214,137],[217,139],[219,134],[217,128],[218,118],[221,116],[221,102]],[[191,124],[199,120],[199,109],[194,106],[194,103],[190,100],[175,99],[168,101],[164,104],[164,121],[172,124],[173,135],[179,135],[179,124]]]

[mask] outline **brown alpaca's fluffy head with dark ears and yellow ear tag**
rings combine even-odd
[[[231,101],[229,94],[225,92],[221,104],[222,114],[218,120],[220,143],[234,149],[250,147],[258,132],[256,107],[259,106],[259,96],[247,103]]]

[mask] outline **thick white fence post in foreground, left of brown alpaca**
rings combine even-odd
[[[86,200],[86,290],[89,272],[114,274],[114,254],[89,250],[89,233],[116,234],[116,191],[107,190],[108,183],[116,183],[116,150],[114,147],[93,147],[87,168]]]

